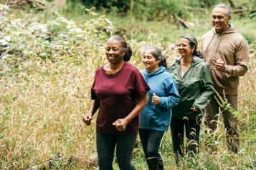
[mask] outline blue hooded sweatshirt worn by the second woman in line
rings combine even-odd
[[[161,66],[148,73],[141,71],[151,90],[148,91],[148,104],[141,111],[139,129],[167,131],[171,122],[171,107],[179,103],[179,91],[173,76]],[[160,97],[158,105],[152,104],[153,93]]]

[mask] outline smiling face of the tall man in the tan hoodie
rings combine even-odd
[[[230,16],[227,16],[227,9],[215,8],[212,11],[212,24],[214,29],[221,33],[228,29]]]

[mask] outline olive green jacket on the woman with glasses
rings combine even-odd
[[[172,108],[173,116],[178,119],[187,117],[191,120],[202,118],[202,109],[209,103],[214,94],[212,76],[209,66],[197,56],[194,56],[191,66],[181,77],[181,58],[176,59],[169,71],[176,79],[181,99],[179,104]],[[192,112],[195,106],[201,111]]]

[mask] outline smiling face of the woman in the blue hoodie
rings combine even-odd
[[[145,69],[147,69],[148,72],[156,71],[159,68],[158,64],[160,62],[160,59],[156,59],[155,57],[153,57],[151,51],[149,50],[145,51],[145,53],[143,54],[142,61]]]

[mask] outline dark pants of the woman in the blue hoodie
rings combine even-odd
[[[141,138],[141,144],[148,164],[148,169],[162,170],[163,159],[159,153],[159,148],[161,146],[164,131],[139,129],[138,133]]]

